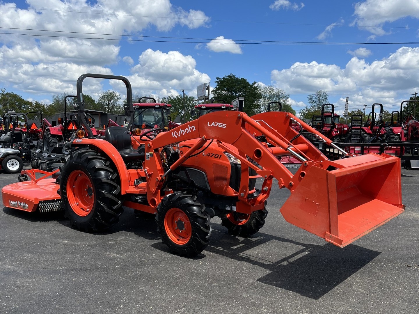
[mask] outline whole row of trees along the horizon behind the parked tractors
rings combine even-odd
[[[261,83],[253,82],[250,83],[246,78],[239,78],[234,74],[225,75],[223,77],[217,77],[215,80],[216,86],[212,89],[212,97],[214,99],[222,99],[225,103],[230,104],[237,97],[244,97],[245,104],[243,111],[249,115],[266,112],[268,104],[270,102],[280,102],[282,104],[282,111],[291,112],[295,114],[295,110],[290,104],[290,94],[286,93],[283,89],[277,88],[273,85],[264,85]],[[51,119],[55,117],[56,113],[64,112],[64,99],[67,93],[55,94],[52,96],[52,102],[50,104],[44,104],[39,101],[27,101],[16,93],[6,92],[4,88],[0,89],[0,115],[3,116],[8,110],[16,110],[16,112],[29,112],[36,111],[42,112],[44,117]],[[138,102],[139,99],[145,95],[136,93],[133,95],[133,102]],[[150,96],[150,95],[149,95]],[[98,110],[108,112],[112,114],[123,114],[123,104],[121,103],[121,96],[116,91],[105,91],[99,96],[96,101],[91,96],[83,95],[85,109]],[[419,100],[419,96],[414,98],[411,97],[409,100]],[[147,101],[144,99],[142,101]],[[172,105],[172,117],[180,116],[183,121],[189,121],[194,117],[191,117],[191,109],[198,102],[195,97],[188,95],[177,95],[167,96],[161,99],[156,99],[157,102],[163,102]],[[127,102],[127,99],[123,101]],[[299,111],[301,119],[311,119],[313,115],[321,114],[321,106],[328,104],[328,93],[327,91],[316,91],[316,93],[309,94],[307,97],[308,106],[304,107]],[[74,110],[75,99],[72,97],[67,98],[67,111]],[[416,108],[415,108],[416,106]],[[272,104],[271,111],[278,110],[277,104]],[[419,102],[409,102],[404,106],[404,112],[415,112],[419,113]],[[367,120],[368,114],[364,114],[361,109],[349,111],[349,117],[352,114],[362,114],[363,121]],[[343,122],[345,118],[340,117]],[[383,121],[391,120],[391,113],[387,110],[383,110]]]

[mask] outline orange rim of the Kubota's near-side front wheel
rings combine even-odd
[[[188,216],[179,208],[171,208],[164,217],[164,228],[169,239],[179,245],[186,244],[192,235]]]

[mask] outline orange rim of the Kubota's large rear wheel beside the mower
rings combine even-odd
[[[68,177],[67,199],[72,210],[79,216],[87,216],[92,211],[95,203],[93,185],[83,171],[73,171]]]

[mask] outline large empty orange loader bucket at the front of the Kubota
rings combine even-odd
[[[403,210],[400,159],[370,153],[310,167],[280,211],[289,223],[344,247]]]

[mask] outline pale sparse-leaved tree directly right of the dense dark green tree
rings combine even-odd
[[[282,104],[282,111],[291,112],[292,114],[295,114],[295,110],[292,109],[292,106],[289,102],[290,94],[285,93],[283,89],[276,88],[273,85],[258,84],[257,86],[259,93],[261,93],[262,97],[258,99],[258,101],[256,102],[255,113],[266,112],[268,110],[268,104],[271,101],[276,101]],[[279,104],[271,104],[270,110],[278,111]]]

